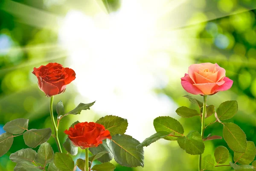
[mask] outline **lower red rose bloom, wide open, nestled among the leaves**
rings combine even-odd
[[[105,130],[101,124],[94,122],[81,122],[64,133],[68,135],[73,144],[82,149],[90,147],[98,147],[102,144],[102,140],[111,139],[110,132]]]

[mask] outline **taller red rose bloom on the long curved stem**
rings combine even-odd
[[[39,88],[46,96],[54,96],[63,93],[67,84],[76,78],[76,73],[70,68],[64,68],[58,63],[49,63],[34,68],[32,72],[38,78]]]

